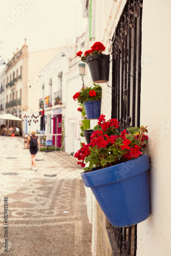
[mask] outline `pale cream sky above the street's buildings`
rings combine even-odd
[[[73,44],[87,24],[88,19],[82,17],[82,0],[1,1],[0,59],[11,59],[25,38],[29,52]]]

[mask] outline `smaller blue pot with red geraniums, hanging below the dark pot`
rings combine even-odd
[[[101,86],[93,83],[92,87],[82,88],[73,96],[74,100],[83,104],[88,119],[98,119],[101,108]]]

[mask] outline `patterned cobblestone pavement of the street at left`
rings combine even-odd
[[[59,151],[38,152],[38,170],[33,172],[24,139],[4,136],[0,156],[0,255],[91,256],[91,224],[74,157]],[[8,198],[8,220],[4,198]],[[8,252],[3,247],[5,234]]]

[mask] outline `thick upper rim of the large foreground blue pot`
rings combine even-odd
[[[81,178],[87,187],[97,187],[119,182],[139,175],[149,169],[148,155],[143,154],[133,160],[113,165],[93,172],[81,173]]]

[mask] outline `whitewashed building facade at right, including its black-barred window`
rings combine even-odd
[[[83,9],[87,10],[84,15],[88,13],[89,19],[86,50],[89,50],[95,41],[101,41],[106,47],[105,54],[110,54],[111,61],[108,85],[101,84],[101,114],[104,114],[106,119],[117,118],[122,129],[129,125],[148,125],[151,215],[137,225],[137,230],[132,229],[132,237],[135,232],[137,239],[135,246],[132,246],[134,248],[128,250],[127,254],[129,243],[126,241],[125,244],[122,243],[125,246],[125,255],[135,255],[134,253],[138,256],[170,255],[168,141],[171,123],[169,86],[171,6],[168,1],[157,4],[155,1],[145,0],[88,2],[83,2]],[[91,86],[90,72],[86,70],[87,85]],[[130,108],[129,112],[126,108]],[[120,255],[120,249],[116,246],[114,250],[112,243],[109,243],[109,223],[106,222],[96,202],[92,201],[89,190],[86,188],[88,212],[93,223],[92,255]],[[122,245],[120,248],[123,249]]]

